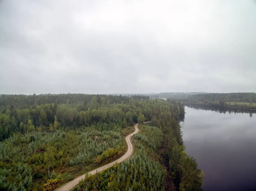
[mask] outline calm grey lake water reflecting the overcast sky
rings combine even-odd
[[[204,191],[256,191],[256,114],[185,111],[183,141],[204,170]]]

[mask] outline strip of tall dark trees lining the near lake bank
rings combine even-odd
[[[174,184],[180,191],[202,190],[204,172],[198,168],[195,159],[186,154],[180,124],[172,117],[172,113],[163,112],[151,120],[151,125],[159,127],[163,132],[161,158],[172,178],[166,186],[172,187]]]

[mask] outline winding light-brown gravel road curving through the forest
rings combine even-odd
[[[113,162],[110,162],[110,163],[108,163],[104,166],[101,166],[99,168],[96,168],[95,170],[88,172],[88,174],[90,174],[90,175],[96,174],[96,171],[97,172],[103,171],[103,170],[113,166],[116,162],[120,163],[120,162],[123,162],[123,161],[129,159],[131,157],[131,155],[133,154],[133,151],[134,151],[134,148],[133,148],[133,145],[131,143],[130,138],[131,138],[131,136],[133,136],[134,134],[139,132],[138,123],[134,125],[134,128],[135,128],[135,131],[132,134],[129,134],[127,137],[125,137],[125,141],[128,145],[127,152],[122,157],[120,157],[119,159],[117,159]],[[80,177],[77,177],[74,180],[71,180],[70,182],[67,182],[63,186],[57,188],[55,191],[70,191],[74,186],[78,185],[79,181],[83,180],[84,177],[85,177],[85,174],[81,175]]]

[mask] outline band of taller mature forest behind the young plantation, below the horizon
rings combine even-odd
[[[0,112],[0,140],[17,132],[24,134],[33,131],[55,131],[60,128],[69,130],[83,125],[96,125],[102,131],[116,124],[125,127],[136,123],[140,113],[144,114],[147,120],[151,119],[151,114],[155,112],[153,105],[157,103],[157,100],[147,100],[145,104],[131,97],[83,94],[49,97],[33,95],[21,98],[2,95],[2,98],[6,103],[2,100],[5,108]],[[84,100],[80,100],[82,98]],[[32,102],[34,99],[35,102]],[[172,104],[169,108],[175,112],[178,105]]]

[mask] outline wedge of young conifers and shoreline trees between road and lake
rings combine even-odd
[[[173,123],[175,123],[173,121]],[[177,124],[176,124],[177,125]],[[172,131],[168,136],[175,145],[160,153],[165,145],[164,131],[155,126],[140,125],[140,133],[134,135],[135,153],[130,160],[93,176],[86,176],[72,191],[200,191],[204,172],[195,160],[184,151],[184,146],[175,141]],[[165,163],[167,165],[165,165]],[[167,180],[171,177],[171,181]]]

